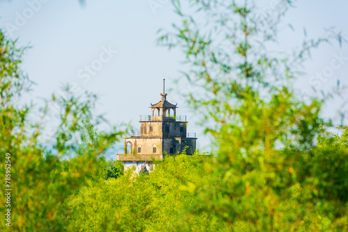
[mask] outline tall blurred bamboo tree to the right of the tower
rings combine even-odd
[[[194,186],[196,205],[187,210],[207,213],[232,231],[347,229],[347,201],[337,191],[347,183],[320,174],[320,154],[328,151],[315,147],[321,126],[330,125],[320,117],[324,99],[303,101],[292,86],[311,49],[342,42],[340,34],[330,31],[305,40],[294,56],[279,55],[269,48],[278,42],[278,25],[293,1],[280,1],[280,10],[268,17],[253,1],[189,3],[185,11],[173,1],[181,24],[159,43],[182,49],[189,67],[184,74],[198,87],[189,103],[203,115],[202,126],[219,151],[212,154],[211,179]],[[342,153],[330,162],[340,163]],[[334,167],[345,176],[344,163]],[[320,186],[319,197],[318,183],[332,188]]]

